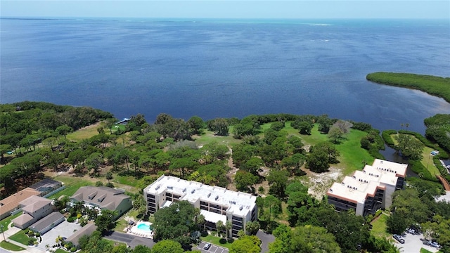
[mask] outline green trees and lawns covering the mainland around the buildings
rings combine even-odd
[[[276,252],[277,247],[291,241],[300,241],[301,233],[310,233],[312,229],[318,233],[316,240],[325,241],[323,245],[334,245],[335,249],[326,252],[354,252],[356,243],[368,252],[398,252],[382,231],[397,233],[410,224],[425,224],[425,220],[387,217],[377,224],[380,233],[371,235],[368,223],[375,216],[355,216],[354,212],[338,214],[323,195],[342,176],[362,169],[375,158],[384,159],[379,151],[387,143],[409,158],[413,170],[419,174],[407,179],[411,188],[406,190],[423,186],[418,189],[420,193],[432,193],[430,197],[423,194],[430,203],[413,197],[415,203],[426,208],[432,205],[437,214],[447,217],[446,207],[442,207],[443,211],[438,209],[439,205],[446,204],[436,203],[432,198],[442,194],[442,185],[435,174],[444,174],[444,169],[437,167],[439,171],[432,171],[431,167],[433,162],[438,162],[438,157],[449,157],[444,137],[449,119],[450,115],[425,119],[425,125],[432,129],[425,138],[403,129],[380,134],[371,124],[328,115],[267,114],[207,121],[193,116],[185,121],[161,113],[155,123],[148,123],[138,114],[131,115],[122,124],[109,112],[94,108],[30,101],[0,104],[3,135],[0,197],[50,176],[66,186],[50,197],[56,199],[58,207],[65,207],[63,200],[80,186],[119,187],[133,200],[133,209],[127,216],[152,219],[146,216],[142,190],[160,175],[167,174],[257,194],[259,212],[255,227],[266,233],[274,232],[276,239],[271,251]],[[439,150],[440,154],[431,160],[430,150]],[[423,160],[423,157],[430,159]],[[446,179],[450,180],[450,176]],[[397,221],[401,222],[401,228],[392,224]],[[118,223],[115,231],[127,226],[123,225],[124,217]],[[221,234],[219,230],[217,234],[213,231],[212,242],[224,241]],[[282,242],[283,238],[297,235],[298,240]],[[230,242],[230,249],[245,242],[246,236]],[[97,240],[95,236],[91,238]],[[445,238],[434,239],[446,245]]]

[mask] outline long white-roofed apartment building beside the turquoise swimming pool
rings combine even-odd
[[[147,202],[147,213],[154,214],[172,202],[187,200],[200,209],[205,216],[206,227],[216,229],[217,221],[231,221],[231,235],[238,236],[238,231],[245,231],[245,223],[256,221],[258,210],[256,197],[248,193],[227,190],[218,186],[207,186],[195,181],[186,181],[174,176],[160,178],[143,190]]]

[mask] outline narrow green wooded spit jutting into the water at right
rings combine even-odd
[[[450,77],[436,77],[427,74],[374,72],[366,79],[377,84],[418,89],[432,96],[444,98],[450,103]]]

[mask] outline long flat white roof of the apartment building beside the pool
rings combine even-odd
[[[166,190],[169,193],[181,195],[179,200],[196,202],[203,200],[205,202],[217,203],[218,205],[228,207],[227,211],[233,214],[243,216],[248,214],[256,205],[256,197],[249,193],[227,190],[218,186],[208,186],[195,181],[186,181],[174,176],[160,176],[150,186],[144,189],[147,193],[162,193]]]

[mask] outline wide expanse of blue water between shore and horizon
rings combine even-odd
[[[89,105],[115,117],[328,114],[424,132],[450,104],[367,82],[450,76],[449,20],[1,20],[1,103]]]

